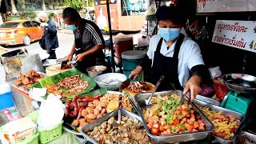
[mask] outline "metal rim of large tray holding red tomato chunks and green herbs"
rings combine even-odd
[[[162,91],[162,92],[156,92],[154,93],[154,96],[160,95],[167,95],[167,94],[178,94],[179,96],[182,95],[182,90],[169,90],[169,91]],[[150,97],[150,93],[148,94],[137,94],[135,95],[134,99],[136,102],[136,105],[138,107],[138,114],[142,117],[143,125],[146,129],[146,133],[150,136],[151,140],[154,143],[175,143],[175,142],[189,142],[194,140],[199,140],[206,138],[210,132],[214,130],[214,125],[200,110],[198,110],[198,107],[194,105],[194,103],[191,103],[194,110],[198,112],[198,114],[201,115],[202,121],[205,123],[206,130],[202,131],[196,131],[196,132],[189,132],[189,133],[182,133],[182,134],[169,134],[169,135],[163,135],[163,136],[156,136],[150,133],[150,130],[148,129],[146,125],[146,120],[144,118],[144,115],[142,114],[142,108],[140,106],[140,103],[143,103],[142,101],[148,99]]]

